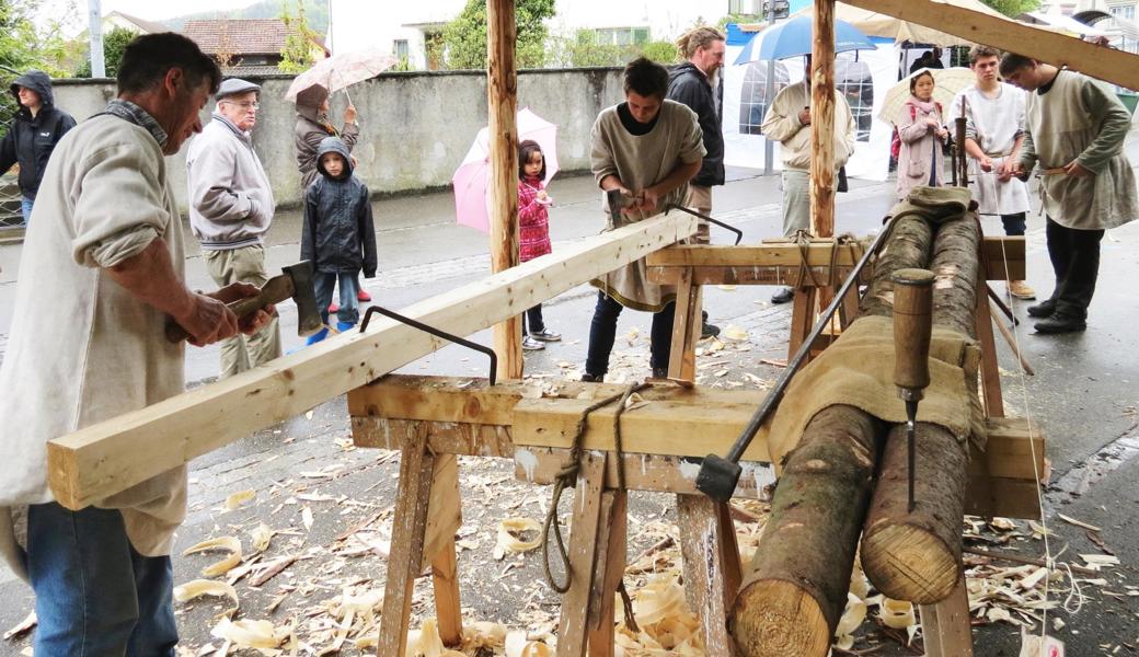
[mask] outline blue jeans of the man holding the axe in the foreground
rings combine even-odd
[[[40,619],[36,655],[173,657],[170,557],[139,555],[117,510],[28,507],[27,573]]]

